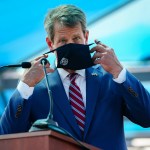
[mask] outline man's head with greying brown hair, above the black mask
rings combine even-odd
[[[62,5],[51,10],[44,22],[51,49],[68,43],[87,44],[85,14],[76,6]]]

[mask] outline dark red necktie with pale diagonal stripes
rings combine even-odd
[[[83,134],[85,126],[85,107],[80,88],[75,83],[75,80],[78,76],[79,75],[77,73],[72,73],[69,75],[69,100],[77,124],[79,125],[79,128]]]

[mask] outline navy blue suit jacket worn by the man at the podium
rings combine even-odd
[[[57,70],[48,75],[54,120],[77,139],[104,150],[125,150],[123,116],[143,127],[150,126],[150,94],[129,72],[118,84],[101,67],[86,69],[86,121],[80,133]],[[1,134],[26,132],[37,119],[47,117],[49,99],[45,80],[24,100],[16,90],[1,118]]]

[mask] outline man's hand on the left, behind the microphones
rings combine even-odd
[[[41,64],[42,58],[47,58],[47,55],[41,56],[36,58],[31,62],[32,66],[30,69],[26,70],[24,72],[24,75],[22,77],[22,81],[26,83],[29,87],[34,87],[38,82],[40,82],[44,77],[44,71]],[[50,73],[54,70],[50,68],[50,63],[46,64],[46,72]]]

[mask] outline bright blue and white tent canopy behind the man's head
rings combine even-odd
[[[139,1],[142,2],[143,5],[135,7],[134,5]],[[88,2],[83,2],[74,0],[70,2],[69,0],[2,0],[0,1],[0,66],[27,61],[29,58],[38,55],[42,50],[47,48],[45,42],[46,32],[43,27],[44,17],[49,9],[61,4],[74,4],[86,13],[88,27],[92,33],[90,34],[90,36],[92,35],[90,41],[93,42],[95,37],[102,39],[105,43],[108,43],[118,50],[117,54],[121,60],[129,58],[124,55],[125,49],[128,53],[126,56],[133,53],[135,55],[135,60],[140,60],[149,53],[150,46],[148,43],[150,43],[150,26],[148,23],[150,23],[150,20],[146,22],[147,24],[141,24],[140,21],[141,19],[144,20],[144,18],[147,19],[150,12],[148,10],[149,0],[139,1],[89,0]],[[128,9],[126,9],[126,6],[129,5],[132,5],[131,9],[133,13],[134,10],[136,10],[134,13],[136,16],[135,19],[138,19],[139,13],[142,13],[139,21],[134,24],[134,26],[128,26],[132,21],[130,19],[130,14],[132,14],[132,12],[130,12],[128,15],[128,22],[124,22],[124,28],[115,30],[120,28],[113,23],[114,15],[117,16],[121,14],[120,10],[125,10],[120,17],[123,17],[125,14],[127,15]],[[107,23],[102,23],[102,21],[104,22],[107,18],[111,20],[111,29],[109,26],[106,26]],[[122,20],[123,18],[118,18],[117,24],[120,25]],[[101,21],[101,25],[98,21]],[[93,31],[93,27],[99,35]],[[129,43],[125,44],[127,41]],[[122,49],[122,51],[120,51],[120,49]],[[137,51],[139,53],[137,53]],[[132,58],[130,57],[130,60]]]

